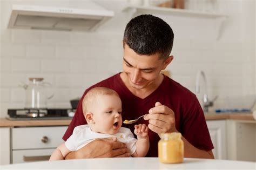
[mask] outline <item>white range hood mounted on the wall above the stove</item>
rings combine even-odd
[[[113,11],[91,1],[61,6],[13,4],[8,28],[93,31],[113,16]]]

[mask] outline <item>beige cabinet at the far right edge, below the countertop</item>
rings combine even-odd
[[[227,159],[256,161],[256,121],[227,120]]]

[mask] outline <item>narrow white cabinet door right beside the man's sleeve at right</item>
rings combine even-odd
[[[215,159],[226,159],[226,120],[208,120],[206,123],[214,146],[212,152]]]

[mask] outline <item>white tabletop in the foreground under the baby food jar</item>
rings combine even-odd
[[[0,166],[0,169],[256,169],[255,162],[192,159],[182,164],[161,164],[158,158],[97,158],[42,161]]]

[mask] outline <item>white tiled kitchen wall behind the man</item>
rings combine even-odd
[[[95,1],[116,14],[96,32],[6,29],[13,2],[1,1],[0,118],[7,108],[24,107],[25,93],[18,84],[29,77],[53,84],[48,93],[54,91],[55,97],[48,107],[70,107],[69,100],[87,87],[122,71],[121,40],[131,17],[122,11],[125,0]],[[215,107],[223,107],[225,96],[256,94],[255,1],[218,3],[218,11],[229,16],[220,32],[215,20],[163,18],[175,34],[174,60],[167,68],[172,78],[194,91],[196,72],[204,70],[210,98],[218,95]]]

